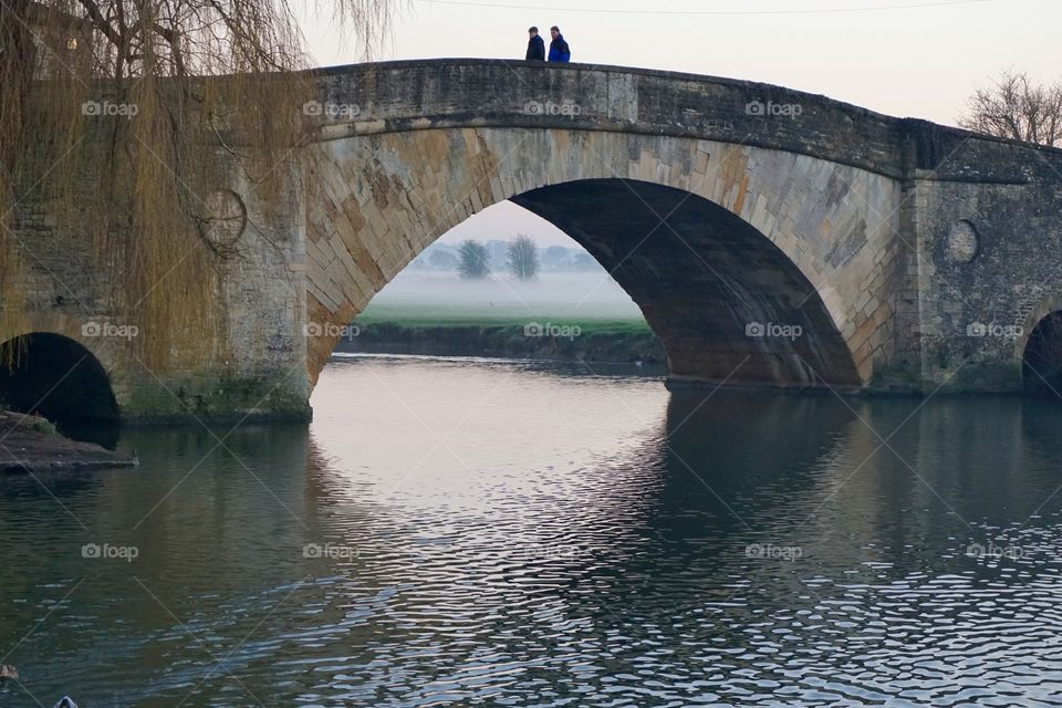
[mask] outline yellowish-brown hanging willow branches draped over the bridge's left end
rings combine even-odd
[[[314,11],[367,56],[403,1]],[[218,275],[238,253],[210,238],[210,196],[238,173],[270,204],[306,159],[298,19],[289,0],[0,0],[0,340],[22,331],[33,254],[14,226],[37,210],[101,269],[150,365],[219,341]]]

